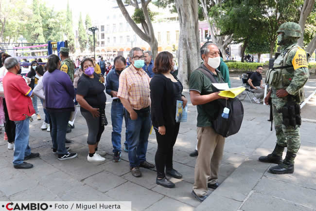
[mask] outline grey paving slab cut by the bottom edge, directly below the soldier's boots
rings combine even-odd
[[[295,194],[295,197],[298,194]],[[271,195],[254,192],[241,207],[243,211],[312,211],[313,209],[299,206]]]

